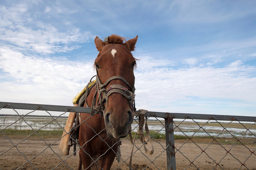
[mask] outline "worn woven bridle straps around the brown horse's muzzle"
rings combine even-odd
[[[122,76],[111,76],[109,79],[107,79],[107,81],[102,84],[101,80],[99,78],[99,74],[98,74],[98,70],[96,69],[97,75],[96,75],[96,91],[95,94],[93,96],[93,100],[92,100],[92,105],[91,105],[91,115],[94,115],[96,113],[100,113],[101,116],[103,115],[103,112],[105,110],[105,106],[104,106],[104,102],[105,105],[107,104],[108,101],[108,97],[112,94],[112,93],[120,93],[122,94],[124,97],[126,97],[126,99],[128,100],[129,106],[132,110],[132,112],[134,113],[136,111],[135,108],[135,87],[134,84],[133,86],[129,85],[129,83],[127,82],[127,80],[122,77]],[[134,82],[135,82],[135,76],[134,77]],[[128,85],[129,89],[122,86],[122,85],[110,85],[108,86],[108,88],[106,89],[106,86],[110,83],[110,81],[114,80],[114,79],[119,79],[122,80],[126,85]],[[96,96],[98,93],[98,101],[96,102]],[[96,112],[95,112],[96,111]]]

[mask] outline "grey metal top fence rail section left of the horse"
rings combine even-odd
[[[91,108],[86,108],[86,107],[28,104],[28,103],[14,103],[14,102],[0,102],[0,108],[91,113]]]

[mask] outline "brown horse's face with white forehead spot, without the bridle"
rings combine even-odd
[[[111,35],[108,42],[95,38],[96,47],[100,51],[95,59],[95,67],[102,84],[112,76],[122,76],[133,87],[136,60],[131,51],[135,48],[137,37],[126,43],[122,43],[122,39],[118,41],[119,38],[117,35]],[[130,87],[120,79],[111,80],[106,85],[106,89],[111,85],[122,85],[131,91]],[[127,136],[134,112],[130,101],[120,93],[111,93],[103,104],[107,135],[112,138]]]

